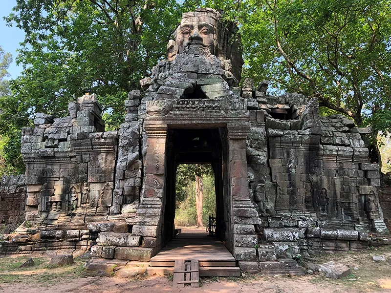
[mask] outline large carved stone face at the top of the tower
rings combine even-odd
[[[214,54],[216,20],[211,17],[185,17],[177,28],[175,43],[182,53],[189,42],[203,45]]]

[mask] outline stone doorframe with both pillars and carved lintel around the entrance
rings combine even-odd
[[[147,135],[145,182],[137,216],[132,221],[132,234],[155,238],[156,244],[152,255],[162,248],[167,130],[169,128],[225,127],[228,146],[229,187],[227,189],[230,199],[230,225],[226,227],[226,246],[235,257],[236,249],[242,247],[253,249],[254,256],[256,256],[254,247],[258,241],[254,224],[259,224],[259,218],[250,200],[248,188],[246,161],[246,138],[250,129],[248,111],[237,110],[235,113],[230,111],[224,113],[220,110],[167,112],[162,106],[157,110],[154,106],[156,102],[164,101],[147,103],[149,115],[144,122],[144,130]],[[243,225],[246,226],[244,230]],[[250,236],[250,240],[248,236]],[[237,258],[237,260],[239,259]]]

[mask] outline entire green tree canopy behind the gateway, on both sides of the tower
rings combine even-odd
[[[0,101],[7,147],[19,153],[17,133],[35,113],[64,116],[86,92],[98,95],[116,128],[127,92],[165,56],[181,13],[197,6],[222,9],[239,25],[243,77],[390,130],[388,0],[17,0],[5,19],[25,32],[17,57],[23,72]]]

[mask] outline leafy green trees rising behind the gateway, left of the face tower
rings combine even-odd
[[[125,114],[127,93],[166,53],[183,11],[197,1],[18,0],[4,19],[25,33],[12,95],[1,97],[0,133],[23,172],[20,129],[36,113],[67,115],[67,105],[96,93],[108,129]]]

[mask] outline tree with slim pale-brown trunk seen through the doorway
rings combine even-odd
[[[195,181],[195,208],[197,212],[196,225],[197,227],[204,227],[202,223],[202,206],[203,206],[203,175],[212,175],[213,169],[210,164],[181,164],[178,166],[177,176],[177,194],[178,190],[188,181]]]

